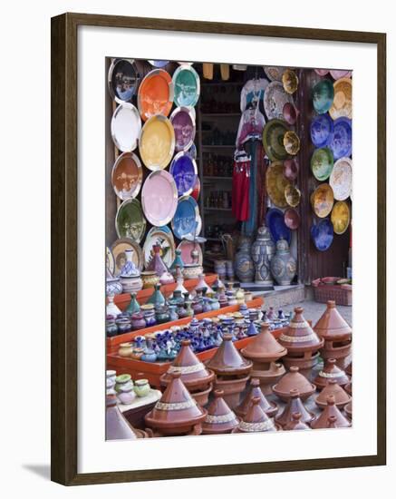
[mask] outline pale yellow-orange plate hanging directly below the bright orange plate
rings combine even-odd
[[[169,165],[175,151],[175,132],[169,119],[160,114],[151,116],[140,132],[140,158],[151,171]]]

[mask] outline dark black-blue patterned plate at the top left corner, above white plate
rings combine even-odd
[[[140,82],[140,73],[133,59],[114,59],[108,74],[111,98],[117,103],[130,101]]]

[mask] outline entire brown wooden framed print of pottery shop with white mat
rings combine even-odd
[[[53,18],[53,481],[385,464],[385,55]]]

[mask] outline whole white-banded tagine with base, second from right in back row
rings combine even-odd
[[[310,378],[312,368],[318,362],[318,352],[324,346],[324,339],[317,336],[305,320],[303,311],[304,308],[295,308],[295,316],[278,341],[287,348],[287,356],[284,357],[285,367],[297,366],[305,377]]]

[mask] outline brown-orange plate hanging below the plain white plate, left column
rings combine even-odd
[[[143,171],[140,159],[133,152],[122,152],[111,171],[111,184],[121,201],[139,194]]]

